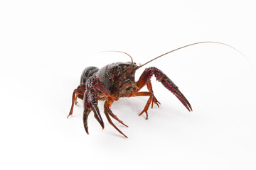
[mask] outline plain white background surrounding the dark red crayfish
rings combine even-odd
[[[1,169],[256,169],[254,1],[1,1]],[[152,78],[160,108],[138,117],[147,98],[112,111],[129,128],[90,115],[71,96],[87,66],[128,62],[122,50],[166,73],[189,113]],[[136,77],[144,68],[137,71]],[[146,89],[145,89],[146,90]]]

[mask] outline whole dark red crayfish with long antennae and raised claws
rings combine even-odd
[[[205,43],[205,42],[196,42],[190,45],[196,45],[199,43]],[[219,43],[226,45],[222,42],[213,42],[213,43]],[[188,47],[190,45],[186,45],[183,47]],[[230,45],[228,45],[231,47]],[[176,50],[179,50],[183,47],[179,47]],[[174,52],[176,50],[172,50],[170,52]],[[119,52],[119,51],[116,51]],[[164,55],[169,54],[170,52],[166,52]],[[126,52],[123,52],[127,54]],[[128,54],[127,54],[128,55]],[[161,57],[163,55],[160,55]],[[129,56],[131,57],[131,56]],[[156,60],[157,58],[154,58],[153,60]],[[132,59],[132,57],[131,57]],[[149,62],[153,61],[150,60]],[[148,64],[149,62],[146,62],[145,64]],[[82,72],[82,76],[80,79],[80,85],[77,89],[73,91],[73,98],[72,98],[72,106],[70,109],[70,115],[73,114],[73,107],[74,103],[77,104],[77,98],[80,98],[84,101],[84,112],[83,112],[83,123],[85,127],[85,131],[87,134],[88,132],[88,126],[87,126],[87,118],[91,111],[94,112],[94,116],[96,120],[100,123],[102,126],[102,129],[104,129],[104,123],[102,120],[102,117],[100,115],[99,108],[97,106],[98,100],[104,100],[104,113],[107,117],[108,122],[122,135],[124,133],[119,130],[114,123],[112,123],[112,118],[117,120],[119,123],[122,123],[122,125],[125,125],[122,120],[119,120],[117,118],[117,115],[114,115],[112,111],[110,110],[110,106],[112,106],[112,103],[114,101],[118,101],[119,98],[122,97],[135,97],[135,96],[149,96],[148,101],[146,102],[146,106],[144,107],[142,113],[146,113],[146,119],[148,118],[148,109],[151,104],[153,107],[153,104],[155,103],[159,107],[159,101],[157,101],[156,97],[154,96],[154,92],[152,90],[151,86],[151,77],[154,75],[156,77],[156,80],[161,82],[166,89],[171,91],[179,101],[185,106],[188,111],[192,111],[191,104],[188,102],[185,96],[181,93],[181,91],[178,89],[178,86],[174,84],[169,77],[166,76],[163,72],[161,72],[160,69],[157,69],[156,67],[149,67],[144,70],[141,77],[139,77],[138,81],[135,81],[134,74],[137,69],[144,66],[137,65],[133,62],[116,62],[112,64],[107,64],[105,67],[102,67],[102,69],[98,69],[97,67],[87,67]],[[143,91],[141,92],[140,89],[142,89],[143,86],[146,86],[149,91]],[[142,115],[140,113],[139,115]],[[128,127],[128,126],[127,126]],[[124,135],[124,137],[127,137]]]

